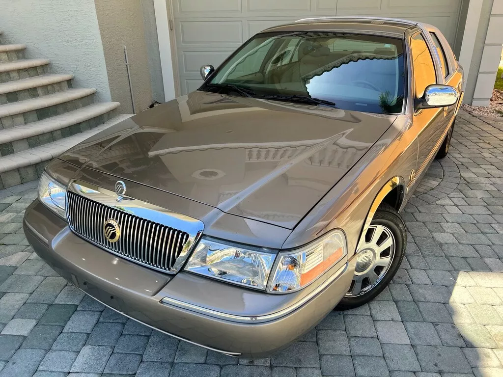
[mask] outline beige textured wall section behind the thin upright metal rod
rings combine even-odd
[[[133,113],[124,61],[125,45],[128,50],[136,112],[140,112],[152,103],[140,0],[95,0],[95,7],[112,101],[121,103],[121,113]]]

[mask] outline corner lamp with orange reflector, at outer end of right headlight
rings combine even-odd
[[[346,237],[334,230],[300,249],[278,254],[269,292],[292,292],[307,286],[347,254]]]

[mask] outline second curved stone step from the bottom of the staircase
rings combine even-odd
[[[93,129],[115,117],[118,102],[92,104],[68,113],[0,131],[0,156],[8,156]]]

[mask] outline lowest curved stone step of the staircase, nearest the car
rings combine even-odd
[[[14,153],[7,157],[0,157],[0,190],[39,178],[50,160],[59,156],[75,144],[131,116],[119,115],[92,130],[23,152]]]

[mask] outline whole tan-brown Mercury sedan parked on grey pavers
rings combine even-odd
[[[264,357],[388,285],[463,70],[434,26],[328,18],[264,30],[201,74],[53,160],[24,230],[104,305]]]

